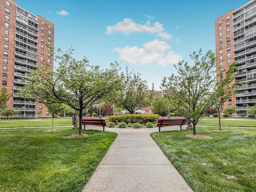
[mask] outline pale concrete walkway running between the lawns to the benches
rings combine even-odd
[[[179,129],[172,126],[161,131]],[[118,136],[82,192],[193,192],[150,137],[158,128],[105,130]]]

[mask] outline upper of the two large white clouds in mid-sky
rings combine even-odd
[[[156,34],[161,38],[170,39],[172,36],[167,32],[164,32],[164,27],[159,22],[154,22],[151,26],[150,22],[146,24],[138,24],[130,18],[125,18],[123,21],[116,23],[113,26],[107,26],[106,34],[113,34],[114,32],[122,32],[126,35],[130,35],[135,32],[146,32],[149,34]]]

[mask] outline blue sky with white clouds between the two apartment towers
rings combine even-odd
[[[215,51],[214,21],[248,0],[16,0],[55,24],[54,46],[109,68],[120,62],[152,82],[176,73],[173,64],[202,48]],[[43,2],[43,3],[42,3]]]

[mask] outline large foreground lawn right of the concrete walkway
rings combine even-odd
[[[255,192],[256,129],[228,130],[196,128],[212,139],[187,137],[192,130],[151,136],[195,192]]]

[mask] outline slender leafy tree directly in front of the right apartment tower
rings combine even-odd
[[[217,76],[216,94],[214,100],[214,109],[218,112],[219,130],[221,130],[220,114],[223,110],[224,103],[236,93],[236,84],[232,84],[237,70],[236,62],[228,66],[228,70],[220,70]]]

